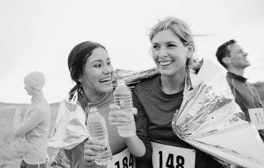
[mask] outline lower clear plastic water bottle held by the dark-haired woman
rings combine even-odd
[[[112,152],[108,142],[108,133],[106,129],[105,119],[98,112],[96,107],[90,109],[91,114],[87,119],[88,130],[91,138],[99,140],[107,147],[107,150],[96,150],[95,162],[97,165],[106,165],[113,159]]]

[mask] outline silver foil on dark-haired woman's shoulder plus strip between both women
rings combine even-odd
[[[159,74],[157,67],[140,71],[115,70],[113,87],[117,86],[117,79],[124,79],[131,90],[142,79]],[[81,103],[82,101],[82,103]],[[90,114],[86,98],[79,88],[61,102],[57,120],[48,142],[47,168],[69,168],[69,160],[64,150],[69,150],[89,138],[87,118]]]

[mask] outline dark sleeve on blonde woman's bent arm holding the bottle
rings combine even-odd
[[[143,164],[147,164],[151,161],[152,158],[152,146],[151,146],[151,142],[149,141],[148,133],[147,133],[148,116],[138,98],[140,84],[141,83],[139,83],[136,87],[134,87],[132,92],[132,98],[133,98],[133,106],[136,109],[138,109],[138,114],[135,115],[135,122],[137,129],[136,134],[138,135],[138,138],[140,138],[141,141],[144,143],[146,148],[146,153],[142,157],[135,157],[135,156],[134,157],[139,162],[142,162]]]

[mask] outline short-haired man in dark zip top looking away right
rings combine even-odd
[[[247,55],[235,40],[225,42],[216,52],[217,60],[228,70],[226,79],[235,102],[245,113],[245,120],[256,125],[264,141],[264,112],[261,100],[256,88],[244,78],[245,68],[251,65]]]

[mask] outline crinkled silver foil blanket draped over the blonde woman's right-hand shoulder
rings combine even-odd
[[[187,72],[184,99],[172,129],[185,142],[228,168],[264,167],[264,143],[244,120],[219,66],[208,59],[197,75]]]

